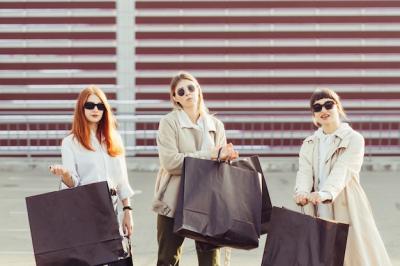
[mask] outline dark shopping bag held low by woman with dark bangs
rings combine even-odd
[[[262,266],[342,266],[349,225],[273,207]]]

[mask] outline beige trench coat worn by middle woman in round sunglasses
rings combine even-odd
[[[178,200],[183,159],[186,156],[211,159],[211,150],[201,151],[203,133],[193,127],[184,112],[175,109],[165,115],[159,125],[157,146],[160,170],[157,174],[153,211],[174,217]],[[204,115],[208,133],[216,146],[226,145],[224,125],[212,115]]]

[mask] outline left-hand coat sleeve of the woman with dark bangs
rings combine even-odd
[[[313,145],[304,141],[300,148],[299,170],[296,175],[295,194],[310,193],[313,187],[313,168],[312,168],[312,148]]]

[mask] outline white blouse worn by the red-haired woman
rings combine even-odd
[[[122,144],[121,137],[118,139]],[[92,132],[90,140],[94,151],[83,147],[74,135],[65,137],[61,145],[62,164],[71,173],[75,186],[107,181],[117,191],[120,200],[133,196],[129,185],[124,155],[112,157]]]

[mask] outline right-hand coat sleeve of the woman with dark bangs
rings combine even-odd
[[[360,172],[364,159],[364,137],[353,134],[345,151],[339,155],[324,186],[320,189],[331,193],[332,201],[346,187],[351,178]]]

